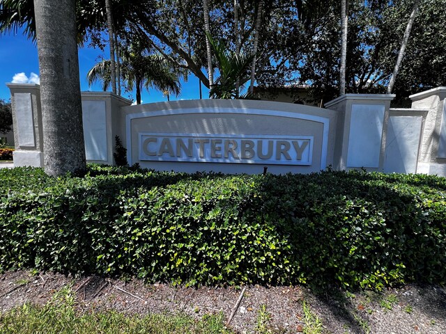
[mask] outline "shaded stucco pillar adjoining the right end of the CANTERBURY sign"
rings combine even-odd
[[[390,94],[345,94],[325,107],[337,111],[333,168],[383,171]]]

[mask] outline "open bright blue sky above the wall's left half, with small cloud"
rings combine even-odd
[[[101,90],[99,84],[89,87],[86,82],[86,73],[93,67],[99,56],[108,58],[108,54],[108,49],[102,52],[100,49],[79,48],[79,74],[82,91]],[[37,47],[33,45],[33,42],[27,40],[21,33],[0,35],[0,99],[10,100],[10,92],[6,83],[13,82],[13,78],[20,82],[36,82],[38,73]],[[181,87],[180,95],[178,97],[171,96],[171,101],[199,99],[199,80],[193,74],[190,75],[187,82],[181,83]],[[202,86],[202,92],[203,98],[208,98],[206,87]],[[123,97],[134,100],[135,94],[123,94]],[[160,102],[167,101],[167,97],[164,97],[161,92],[151,89],[149,93],[147,90],[142,92],[141,100],[142,103]]]

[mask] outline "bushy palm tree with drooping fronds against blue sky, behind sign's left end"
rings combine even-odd
[[[179,79],[182,74],[176,72],[159,54],[150,54],[139,43],[130,47],[121,47],[121,79],[128,91],[136,90],[137,104],[141,104],[141,90],[156,88],[174,95],[180,93]],[[102,81],[102,89],[107,90],[112,82],[111,62],[102,60],[94,65],[87,74],[89,84]]]

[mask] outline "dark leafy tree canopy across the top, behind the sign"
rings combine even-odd
[[[259,2],[239,0],[235,18],[233,1],[208,0],[210,35],[223,40],[229,50],[252,55]],[[385,93],[413,3],[414,0],[348,1],[346,93]],[[336,97],[340,6],[340,1],[335,0],[263,1],[256,84],[309,86],[315,100]],[[399,97],[446,84],[443,7],[444,0],[420,1],[394,86]],[[202,1],[113,0],[112,8],[118,35],[131,33],[132,38],[149,43],[172,65],[194,74],[209,87]],[[32,13],[31,0],[3,0],[0,31],[24,26],[32,38]],[[100,31],[107,26],[105,0],[77,0],[77,21],[79,42],[90,38],[93,44],[100,45]],[[214,65],[217,62],[214,55]]]

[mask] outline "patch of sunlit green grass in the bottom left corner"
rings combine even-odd
[[[97,312],[93,308],[82,315],[76,311],[70,288],[57,292],[49,303],[39,306],[25,303],[0,316],[3,334],[71,333],[231,333],[223,324],[223,315],[203,319],[179,315],[124,315],[116,311]]]

